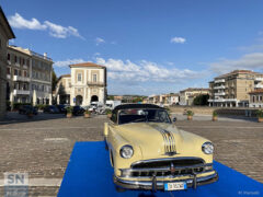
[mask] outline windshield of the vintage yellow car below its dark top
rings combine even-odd
[[[171,119],[164,109],[123,109],[118,113],[118,124],[128,123],[171,123]]]

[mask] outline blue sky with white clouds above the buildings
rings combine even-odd
[[[107,67],[108,94],[208,88],[236,69],[263,72],[262,0],[0,0],[16,36],[54,70]]]

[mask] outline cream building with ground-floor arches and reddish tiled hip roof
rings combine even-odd
[[[70,65],[71,74],[61,76],[56,86],[58,104],[88,106],[105,103],[106,68],[92,62]]]

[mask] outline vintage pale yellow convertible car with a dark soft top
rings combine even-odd
[[[213,143],[176,128],[157,105],[116,106],[104,137],[118,188],[179,190],[218,179]]]

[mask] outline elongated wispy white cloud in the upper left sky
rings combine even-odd
[[[61,26],[49,21],[45,21],[43,24],[32,18],[31,20],[25,20],[19,13],[8,18],[9,23],[14,28],[34,30],[34,31],[48,31],[49,35],[56,38],[67,38],[69,36],[75,36],[84,39],[78,32],[77,28],[72,26]]]

